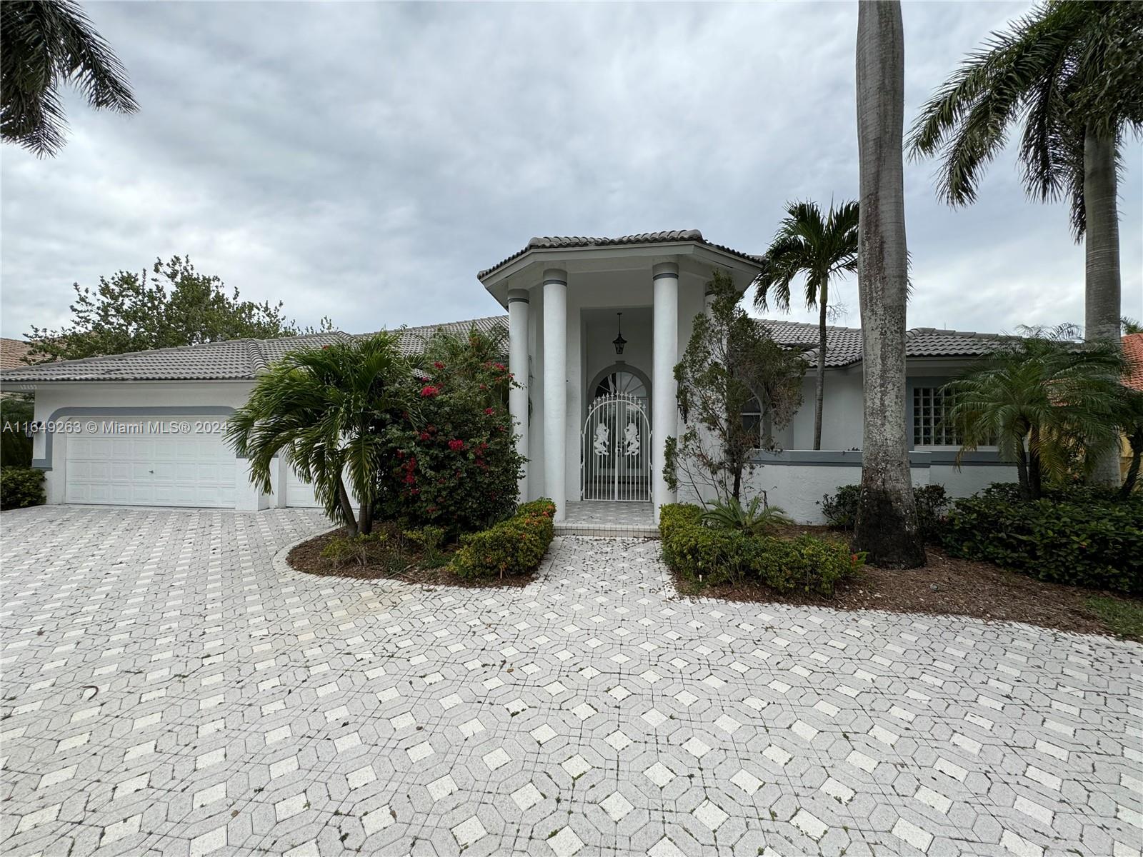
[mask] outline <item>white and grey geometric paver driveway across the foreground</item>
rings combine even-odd
[[[1137,646],[306,577],[314,513],[5,513],[7,854],[1138,854]]]

